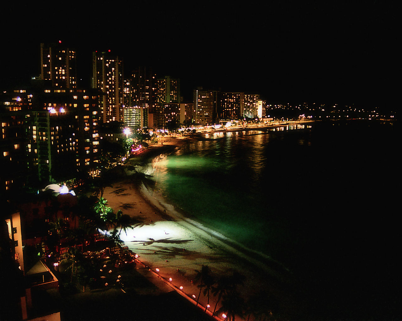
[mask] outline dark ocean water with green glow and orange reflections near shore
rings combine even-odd
[[[153,179],[185,215],[308,284],[312,315],[394,317],[399,146],[379,122],[212,133],[154,161]]]

